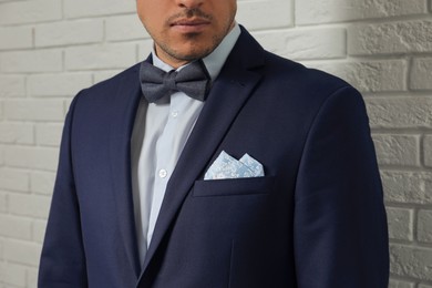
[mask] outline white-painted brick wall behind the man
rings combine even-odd
[[[432,288],[432,0],[241,0],[265,48],[364,95],[389,215],[390,288]],[[37,286],[62,122],[141,61],[131,0],[0,0],[0,288]]]

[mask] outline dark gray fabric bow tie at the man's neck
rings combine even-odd
[[[174,92],[205,101],[209,91],[209,75],[202,60],[194,61],[179,72],[165,72],[144,61],[140,69],[141,89],[148,102],[155,102]]]

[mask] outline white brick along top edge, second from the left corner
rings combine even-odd
[[[68,18],[120,14],[135,12],[135,4],[128,0],[64,0],[64,14]]]

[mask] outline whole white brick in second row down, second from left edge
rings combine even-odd
[[[35,47],[96,43],[103,40],[101,19],[39,24],[34,29]]]

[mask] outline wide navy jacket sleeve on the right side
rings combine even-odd
[[[388,232],[364,103],[342,88],[309,131],[296,185],[299,288],[387,288]]]

